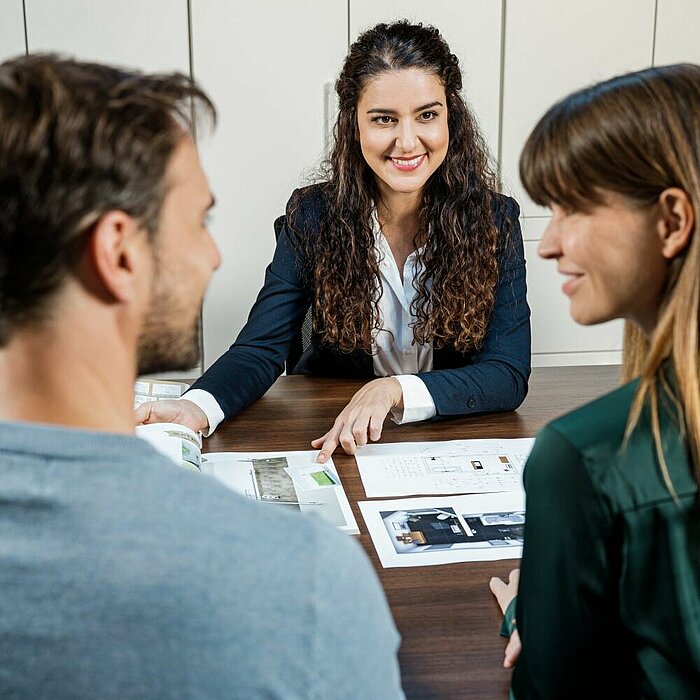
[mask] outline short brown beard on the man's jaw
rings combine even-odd
[[[144,322],[138,345],[139,375],[187,370],[199,364],[199,317],[192,327],[178,328],[172,309],[168,313],[163,307],[155,304]]]

